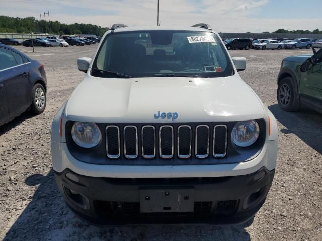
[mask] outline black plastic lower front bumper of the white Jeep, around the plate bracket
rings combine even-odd
[[[102,178],[65,169],[55,172],[55,178],[67,205],[91,223],[234,224],[249,220],[261,208],[274,172],[263,167],[248,175],[229,177]],[[72,180],[66,177],[67,173]],[[142,213],[140,190],[146,188],[170,192],[190,188],[193,190],[193,212]]]

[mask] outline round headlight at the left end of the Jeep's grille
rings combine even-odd
[[[75,122],[71,128],[75,143],[84,148],[95,147],[102,139],[100,129],[95,123]]]

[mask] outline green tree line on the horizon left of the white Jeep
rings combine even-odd
[[[0,16],[0,33],[95,34],[102,36],[109,28],[93,24],[63,24],[59,21],[37,20],[35,17]]]

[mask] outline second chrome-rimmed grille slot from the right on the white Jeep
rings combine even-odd
[[[197,158],[207,158],[209,156],[209,126],[200,125],[196,127],[195,152]]]

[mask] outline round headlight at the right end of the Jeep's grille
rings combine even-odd
[[[248,147],[256,142],[260,127],[256,121],[237,122],[231,132],[232,142],[239,147]]]

